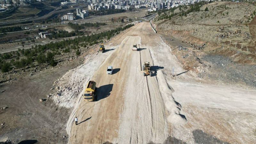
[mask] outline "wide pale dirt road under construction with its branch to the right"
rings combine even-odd
[[[133,44],[140,44],[139,51],[132,51]],[[256,139],[256,91],[204,84],[181,68],[148,22],[126,30],[106,49],[72,74],[84,77],[83,85],[97,82],[98,101],[84,102],[82,92],[78,95],[67,125],[69,143],[164,143],[169,136],[187,143]],[[152,77],[142,76],[144,61],[151,63]],[[113,75],[106,74],[108,66]]]

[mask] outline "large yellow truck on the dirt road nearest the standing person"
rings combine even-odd
[[[84,101],[97,101],[96,89],[96,82],[89,81],[83,94]]]

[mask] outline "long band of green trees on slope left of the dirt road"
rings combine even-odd
[[[76,55],[80,55],[81,52],[79,51],[79,43],[84,47],[86,47],[87,44],[98,44],[102,42],[102,39],[110,39],[120,31],[132,26],[134,25],[129,24],[123,28],[119,27],[113,30],[101,32],[99,34],[78,36],[74,39],[67,39],[60,42],[35,45],[35,47],[32,46],[31,49],[27,50],[19,49],[17,52],[0,54],[0,68],[2,72],[8,72],[13,68],[13,66],[16,68],[24,68],[26,66],[33,66],[34,62],[37,62],[38,64],[48,63],[51,66],[56,66],[57,62],[54,60],[55,55],[60,55],[61,52],[70,52],[71,49],[76,50]],[[7,62],[7,60],[9,60],[9,62]]]

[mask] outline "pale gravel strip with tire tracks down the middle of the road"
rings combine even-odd
[[[140,51],[132,52],[132,58],[129,62],[131,65],[126,66],[130,67],[126,71],[129,73],[129,76],[126,76],[129,77],[126,82],[128,89],[124,92],[124,112],[120,118],[118,143],[163,143],[167,138],[167,126],[164,122],[163,114],[165,114],[165,111],[162,108],[162,99],[159,98],[161,95],[157,87],[158,83],[154,76],[142,76],[144,61],[153,64],[149,49],[146,47],[151,44],[146,42],[148,38],[145,36],[150,34],[147,28],[149,23],[139,25],[141,27],[134,29],[130,35],[134,37],[134,40],[138,39],[137,36],[140,36],[140,40],[143,37],[143,41],[138,41]],[[127,46],[129,51],[131,51],[130,45],[132,47],[132,44],[136,43],[134,40],[131,39],[126,43],[126,45],[129,45]],[[141,45],[141,42],[146,42],[146,45]]]

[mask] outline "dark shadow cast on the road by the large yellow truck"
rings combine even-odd
[[[97,88],[97,101],[101,99],[105,99],[110,95],[110,92],[113,89],[114,84],[107,84],[107,85],[102,85],[99,88]]]

